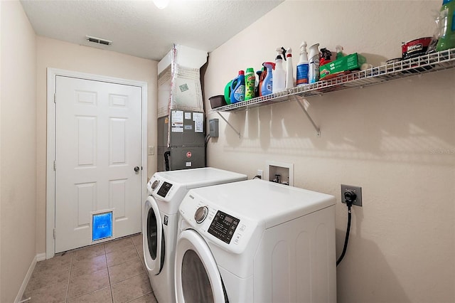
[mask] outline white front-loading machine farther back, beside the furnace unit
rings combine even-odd
[[[161,171],[147,184],[142,236],[144,261],[159,303],[175,302],[173,261],[177,239],[178,206],[191,188],[246,180],[244,174],[205,167]]]

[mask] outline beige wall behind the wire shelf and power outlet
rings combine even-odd
[[[375,65],[400,57],[402,41],[432,35],[440,2],[285,1],[210,53],[206,105],[238,70],[274,60],[277,47],[293,48],[295,66],[303,40],[341,44]],[[447,70],[310,97],[321,137],[294,101],[223,113],[242,137],[220,119],[208,164],[252,178],[267,160],[294,163],[295,186],[337,198],[337,255],[347,218],[340,184],[362,186],[338,302],[455,302],[454,80]]]

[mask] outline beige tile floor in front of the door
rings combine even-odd
[[[156,303],[144,267],[142,235],[70,250],[37,262],[24,303]]]

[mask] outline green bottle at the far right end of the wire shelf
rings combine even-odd
[[[441,36],[436,50],[455,48],[455,0],[442,1],[439,18],[441,18]]]

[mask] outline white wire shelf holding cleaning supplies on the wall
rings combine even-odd
[[[346,90],[354,87],[365,87],[390,80],[407,78],[424,73],[434,73],[439,70],[455,68],[455,48],[429,53],[416,58],[401,60],[395,63],[380,65],[367,70],[358,70],[345,75],[340,75],[329,80],[303,85],[277,92],[264,97],[257,97],[247,101],[237,102],[210,110],[214,112],[235,112],[249,110],[254,107],[275,104],[294,100],[292,96],[311,97],[324,95],[329,92]]]

